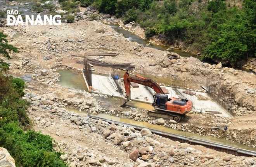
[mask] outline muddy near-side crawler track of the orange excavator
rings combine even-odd
[[[181,116],[176,113],[169,113],[165,111],[156,111],[150,110],[147,112],[147,115],[154,118],[163,118],[165,120],[175,120],[176,122],[180,121]]]

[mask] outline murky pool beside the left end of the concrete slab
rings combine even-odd
[[[60,80],[57,84],[67,88],[74,88],[82,91],[88,91],[86,88],[85,80],[83,75],[78,75],[72,71],[61,70],[57,71],[61,74]]]

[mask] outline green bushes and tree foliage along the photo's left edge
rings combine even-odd
[[[9,59],[9,53],[19,51],[6,37],[0,32],[0,54]],[[21,99],[25,82],[8,75],[8,70],[9,65],[0,59],[0,147],[8,150],[17,167],[67,167],[61,152],[53,150],[53,138],[30,130],[29,103]]]

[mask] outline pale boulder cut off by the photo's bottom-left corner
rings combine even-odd
[[[15,160],[3,147],[0,147],[0,167],[16,167]]]

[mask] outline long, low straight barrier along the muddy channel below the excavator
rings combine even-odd
[[[88,115],[88,116],[92,119],[103,120],[103,121],[106,121],[108,123],[115,123],[117,125],[125,125],[125,126],[128,126],[128,127],[133,127],[137,130],[142,130],[144,128],[144,127],[140,127],[140,126],[137,126],[137,125],[131,125],[131,124],[128,124],[128,123],[109,120],[109,119],[106,119],[106,118],[101,118],[101,117],[98,117],[98,116],[91,116],[91,115]],[[152,131],[153,133],[157,134],[157,135],[161,135],[162,137],[165,137],[165,138],[170,138],[173,141],[178,141],[178,142],[181,142],[181,143],[189,143],[190,145],[202,145],[204,147],[211,148],[211,149],[216,150],[216,151],[226,152],[228,154],[234,154],[234,155],[237,155],[237,156],[245,156],[245,157],[256,156],[255,151],[245,150],[245,149],[236,148],[236,147],[230,147],[228,145],[209,142],[209,141],[206,141],[206,140],[200,140],[200,139],[197,139],[197,138],[184,137],[182,135],[177,135],[175,133],[168,133],[168,132],[155,130],[155,129],[151,129],[151,128],[148,128],[148,129],[150,131]]]

